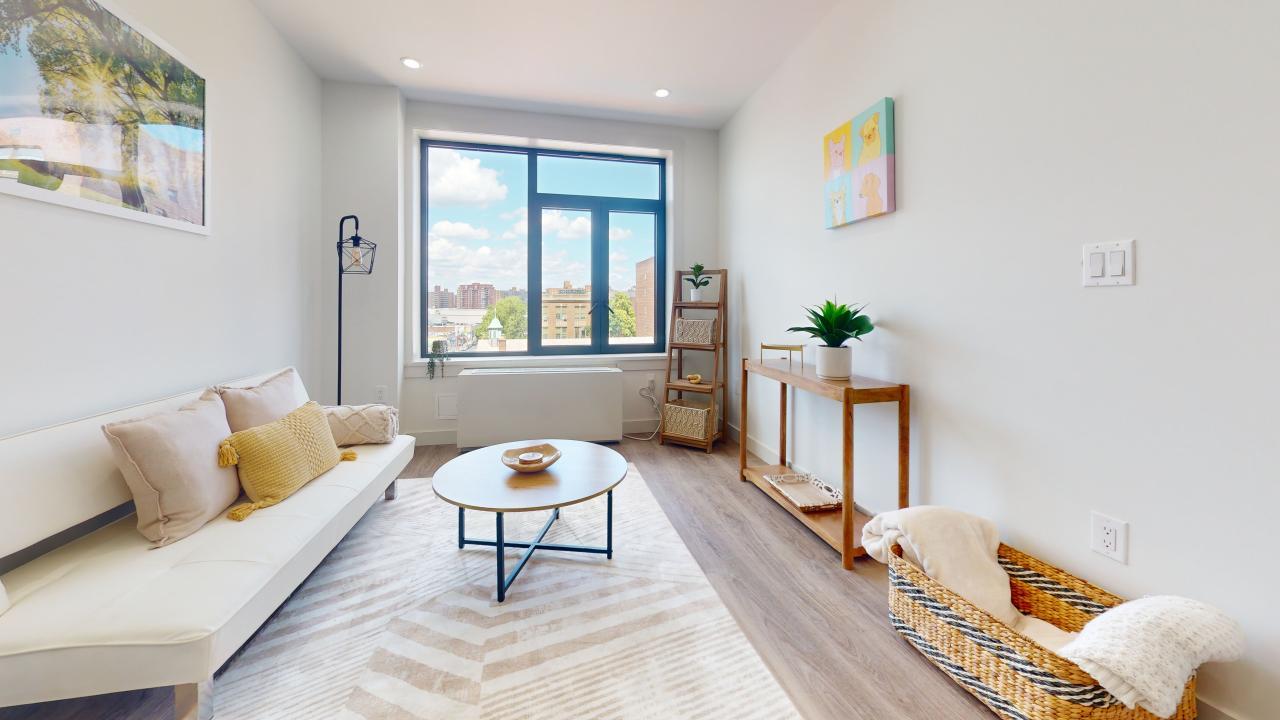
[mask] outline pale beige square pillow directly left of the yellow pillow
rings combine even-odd
[[[218,466],[230,428],[214,392],[172,413],[102,425],[102,433],[133,493],[138,532],[156,544],[189,536],[239,497],[236,469]]]

